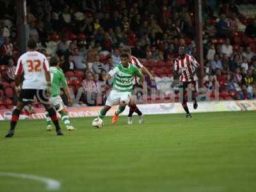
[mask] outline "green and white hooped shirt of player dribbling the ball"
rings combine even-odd
[[[128,68],[124,68],[122,63],[119,63],[113,70],[109,71],[109,75],[114,77],[113,89],[119,92],[132,92],[134,77],[142,76],[135,65],[129,64]]]

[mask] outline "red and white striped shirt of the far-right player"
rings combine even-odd
[[[182,82],[196,81],[197,77],[193,72],[195,71],[195,68],[198,67],[199,63],[189,54],[186,54],[184,59],[179,56],[174,63],[174,70],[175,72],[179,72],[180,81]]]

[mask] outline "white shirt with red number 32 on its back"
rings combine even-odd
[[[45,90],[45,72],[49,70],[49,62],[44,54],[28,51],[20,56],[15,75],[20,76],[24,72],[22,89]]]

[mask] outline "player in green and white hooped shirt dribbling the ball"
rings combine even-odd
[[[121,63],[113,68],[113,70],[109,71],[107,78],[111,79],[111,77],[114,77],[113,89],[108,95],[104,108],[99,112],[99,118],[102,119],[113,105],[119,104],[119,107],[112,118],[113,124],[117,122],[118,115],[124,111],[125,106],[131,99],[134,77],[140,77],[141,83],[145,82],[145,77],[141,74],[140,70],[129,63],[131,61],[129,54],[121,54],[120,59]]]

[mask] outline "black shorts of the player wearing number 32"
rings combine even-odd
[[[19,100],[23,103],[35,102],[36,97],[38,102],[43,104],[49,104],[49,97],[47,96],[46,90],[36,89],[24,89],[20,91]]]

